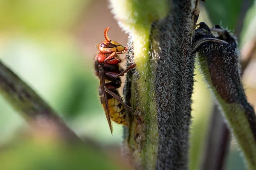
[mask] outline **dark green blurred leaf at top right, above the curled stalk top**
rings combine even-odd
[[[221,23],[228,29],[235,29],[243,6],[243,0],[206,0],[204,2],[213,24]]]

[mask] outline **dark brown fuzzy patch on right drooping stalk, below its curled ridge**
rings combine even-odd
[[[239,51],[227,43],[207,43],[209,45],[199,52],[199,57],[206,57],[212,85],[227,103],[239,102],[239,95],[244,97],[240,82]]]

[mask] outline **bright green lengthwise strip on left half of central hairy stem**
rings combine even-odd
[[[143,35],[141,37],[140,35]],[[149,49],[150,42],[150,28],[143,30],[137,34],[133,34],[134,37],[134,62],[137,64],[137,71],[140,79],[136,80],[138,85],[138,99],[141,99],[138,107],[142,109],[145,123],[145,145],[143,147],[143,167],[148,167],[149,164],[155,165],[158,143],[157,133],[157,112],[155,99],[155,87],[154,81],[155,70],[150,67],[151,51]],[[143,45],[143,46],[142,46]],[[135,97],[135,96],[134,96]]]

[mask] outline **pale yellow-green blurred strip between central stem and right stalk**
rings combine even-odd
[[[198,68],[198,65],[196,65]],[[209,116],[212,108],[212,97],[204,84],[200,69],[195,70],[194,93],[192,94],[192,125],[189,148],[189,169],[198,170],[201,163],[207,130],[209,129]],[[204,103],[204,105],[202,105]]]

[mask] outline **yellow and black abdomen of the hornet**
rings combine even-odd
[[[116,89],[113,89],[111,91],[113,91],[113,93],[115,93],[116,95],[120,96],[120,94]],[[99,96],[100,96],[100,101],[102,103],[102,94],[101,94],[100,88],[99,88]],[[117,124],[128,126],[127,120],[126,120],[127,116],[125,114],[125,107],[110,94],[107,94],[107,96],[108,96],[108,110],[109,110],[110,119],[113,122],[116,122]]]

